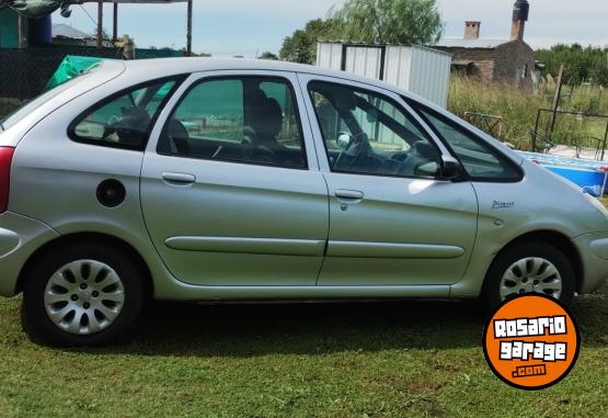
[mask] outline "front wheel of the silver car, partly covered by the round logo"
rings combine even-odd
[[[572,303],[575,292],[575,274],[569,258],[540,241],[503,250],[487,271],[482,296],[490,307],[495,307],[505,298],[535,292],[564,305]]]

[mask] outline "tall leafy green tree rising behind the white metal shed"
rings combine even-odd
[[[351,42],[429,45],[444,31],[437,0],[348,0],[330,16]]]

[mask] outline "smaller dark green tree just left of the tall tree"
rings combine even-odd
[[[313,64],[317,56],[317,42],[331,38],[335,34],[335,24],[331,20],[316,19],[306,24],[303,30],[297,30],[291,36],[283,41],[280,59]]]

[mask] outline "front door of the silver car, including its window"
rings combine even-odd
[[[437,285],[436,294],[447,295],[447,285],[466,272],[475,240],[471,183],[441,180],[448,151],[398,95],[299,77],[318,121],[313,132],[330,193],[318,283]]]

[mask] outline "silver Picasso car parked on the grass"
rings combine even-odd
[[[608,276],[608,213],[381,82],[273,61],[105,61],[0,128],[0,295],[54,344],[145,302],[570,303]]]

